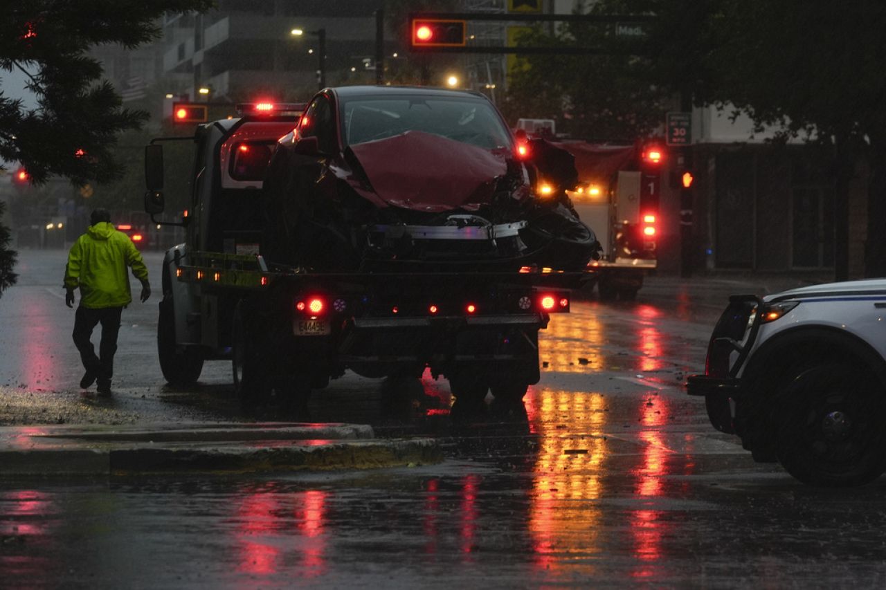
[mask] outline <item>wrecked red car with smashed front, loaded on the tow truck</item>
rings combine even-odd
[[[323,271],[582,270],[600,246],[565,194],[571,156],[556,152],[533,162],[480,93],[325,89],[268,167],[266,258]]]

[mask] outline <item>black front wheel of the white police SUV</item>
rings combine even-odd
[[[807,485],[867,484],[886,468],[884,409],[882,384],[858,363],[806,369],[780,404],[775,454]]]

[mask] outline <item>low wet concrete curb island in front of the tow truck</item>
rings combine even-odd
[[[361,424],[0,427],[2,476],[364,470],[440,461],[432,439],[376,439]]]

